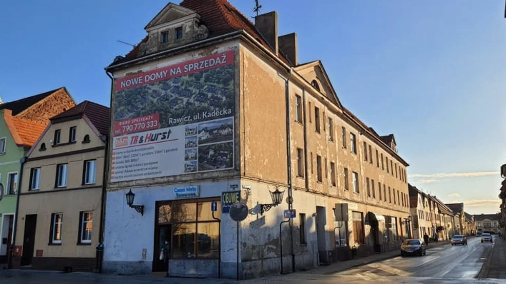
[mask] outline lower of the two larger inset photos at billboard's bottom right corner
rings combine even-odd
[[[199,147],[199,171],[231,168],[233,164],[233,142]]]

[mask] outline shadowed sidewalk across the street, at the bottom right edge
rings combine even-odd
[[[506,241],[495,238],[494,246],[483,264],[478,278],[506,279]]]

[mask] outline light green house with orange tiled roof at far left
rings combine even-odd
[[[65,88],[0,104],[0,264],[6,264],[13,241],[20,159],[44,132],[49,118],[75,105]]]

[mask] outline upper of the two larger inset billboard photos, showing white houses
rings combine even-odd
[[[233,139],[233,117],[199,124],[199,144],[218,143]]]

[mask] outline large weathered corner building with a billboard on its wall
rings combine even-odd
[[[342,106],[320,61],[299,64],[275,12],[253,24],[224,0],[185,0],[145,30],[107,68],[104,271],[245,279],[398,249],[411,229],[394,136]]]

